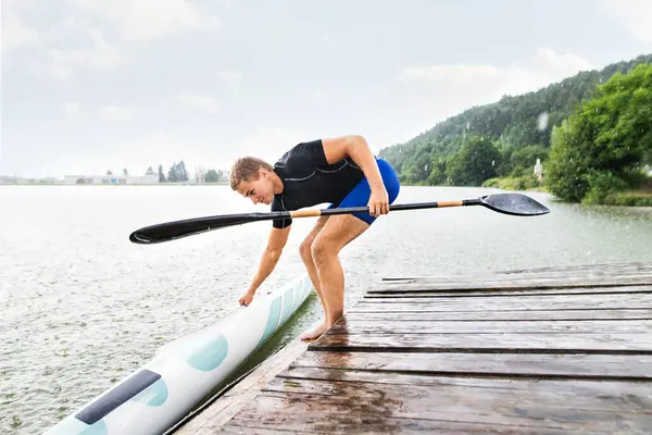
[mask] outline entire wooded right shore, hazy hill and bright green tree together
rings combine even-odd
[[[566,201],[604,202],[650,183],[652,55],[505,96],[437,124],[379,157],[412,185],[544,187]],[[544,177],[534,166],[543,163]],[[649,166],[648,166],[649,167]],[[652,199],[651,199],[652,200]]]

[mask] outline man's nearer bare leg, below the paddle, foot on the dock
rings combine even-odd
[[[302,339],[315,339],[333,326],[344,313],[344,273],[339,261],[340,250],[369,227],[353,215],[333,215],[312,244],[312,257],[319,277],[326,307],[325,322],[302,334]]]

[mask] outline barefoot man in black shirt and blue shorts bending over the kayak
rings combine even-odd
[[[230,173],[231,188],[254,204],[290,211],[318,203],[365,207],[368,213],[321,216],[301,243],[300,254],[324,308],[324,322],[301,339],[316,339],[343,315],[344,277],[339,251],[364,233],[399,194],[394,170],[376,159],[361,136],[318,139],[296,145],[274,166],[261,159],[238,159]],[[274,220],[267,247],[249,289],[239,300],[249,304],[272,273],[291,227],[291,219]]]

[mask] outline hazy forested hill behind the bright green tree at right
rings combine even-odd
[[[397,169],[405,184],[479,185],[494,176],[531,174],[537,158],[548,159],[553,126],[559,127],[580,102],[592,97],[599,84],[644,63],[652,63],[652,54],[581,72],[537,91],[504,96],[452,116],[404,144],[384,148],[378,156]],[[480,161],[490,159],[492,167],[480,177],[463,176],[464,159],[478,153]]]

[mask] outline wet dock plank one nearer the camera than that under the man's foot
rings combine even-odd
[[[289,369],[314,368],[414,374],[652,380],[652,355],[399,353],[312,351]],[[290,371],[288,373],[294,373]],[[310,374],[303,374],[310,377]]]

